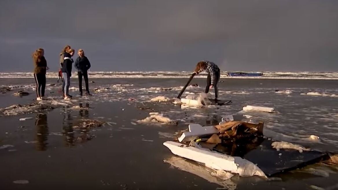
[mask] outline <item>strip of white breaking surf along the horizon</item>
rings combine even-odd
[[[76,76],[73,72],[73,77]],[[125,72],[89,72],[90,78],[189,78],[188,71],[125,71]],[[47,78],[57,78],[57,72],[48,72]],[[206,78],[206,73],[201,73],[195,78]],[[34,78],[32,72],[0,72],[0,78]],[[221,72],[221,78],[245,78],[245,79],[322,79],[337,80],[338,72],[264,72],[263,76],[228,76],[227,72]]]

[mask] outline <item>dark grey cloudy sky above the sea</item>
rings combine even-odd
[[[67,44],[92,71],[338,71],[338,1],[1,0],[0,44],[0,72],[37,48],[56,72]]]

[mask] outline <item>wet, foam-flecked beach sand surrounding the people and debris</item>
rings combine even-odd
[[[52,110],[34,113],[1,115],[2,189],[222,188],[192,171],[182,171],[164,162],[175,156],[162,143],[175,138],[191,122],[216,124],[222,116],[237,113],[249,104],[272,106],[278,111],[275,114],[245,113],[266,123],[267,136],[321,151],[338,151],[337,97],[306,95],[313,91],[338,94],[336,80],[227,79],[220,83],[220,97],[232,99],[234,103],[197,109],[181,109],[170,101],[149,102],[156,96],[175,98],[187,79],[93,80],[92,97],[74,96],[65,103],[59,86],[47,86],[49,100],[46,102],[67,105],[55,105]],[[55,82],[47,79],[47,84]],[[186,91],[202,92],[204,82],[204,79],[194,79],[192,83],[201,87],[190,87]],[[35,102],[32,79],[2,79],[0,85],[19,86],[0,95],[0,108]],[[76,95],[76,78],[72,79],[71,87],[75,87],[71,94]],[[31,94],[14,96],[19,90]],[[275,93],[275,90],[292,93]],[[149,116],[149,112],[162,113],[178,124],[137,123]],[[32,119],[19,121],[25,117]],[[81,119],[107,123],[95,128],[74,128]],[[309,135],[319,136],[321,142],[304,140]],[[4,148],[4,145],[10,146]],[[311,185],[332,188],[337,184],[338,174],[337,168],[315,164],[276,177],[267,181],[255,176],[234,176],[227,184],[236,189],[311,189]]]

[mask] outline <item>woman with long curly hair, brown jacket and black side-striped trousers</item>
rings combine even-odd
[[[37,83],[37,100],[43,100],[45,96],[45,88],[46,88],[46,70],[49,69],[47,67],[47,61],[44,57],[45,51],[42,48],[35,50],[33,53],[33,63],[34,63],[34,79]]]

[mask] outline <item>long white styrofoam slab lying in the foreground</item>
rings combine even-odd
[[[181,143],[166,141],[163,143],[177,156],[184,157],[206,165],[215,170],[238,173],[240,176],[265,176],[264,172],[254,163],[240,157],[232,157],[215,151],[187,146]]]

